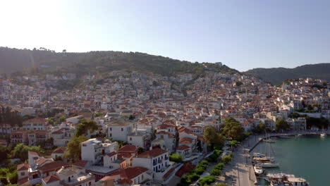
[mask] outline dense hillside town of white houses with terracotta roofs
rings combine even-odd
[[[226,171],[247,138],[329,125],[324,80],[114,70],[63,88],[77,78],[1,75],[2,185],[243,185]]]

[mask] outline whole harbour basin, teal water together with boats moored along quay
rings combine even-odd
[[[314,186],[330,182],[329,176],[315,171],[320,168],[317,165],[326,164],[322,170],[329,172],[330,163],[321,159],[310,161],[316,154],[322,154],[323,160],[329,157],[328,135],[326,132],[292,132],[254,136],[255,143],[247,145],[251,145],[249,160],[257,180],[255,185]]]

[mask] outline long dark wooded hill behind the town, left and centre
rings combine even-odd
[[[215,63],[191,63],[139,52],[90,51],[56,53],[48,49],[10,49],[0,47],[0,73],[75,73],[104,74],[114,70],[152,72],[159,75],[193,73],[200,77],[207,70],[239,73],[238,70]]]

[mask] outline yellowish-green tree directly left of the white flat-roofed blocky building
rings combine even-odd
[[[86,140],[88,140],[88,138],[82,135],[72,137],[71,142],[68,142],[68,151],[64,154],[64,157],[78,161],[81,154],[80,143],[85,142]]]

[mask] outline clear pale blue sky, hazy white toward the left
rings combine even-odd
[[[330,1],[0,1],[0,46],[140,51],[240,71],[330,63]]]

